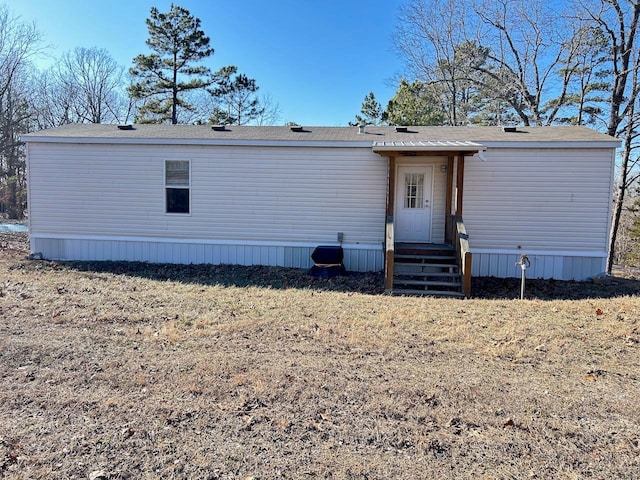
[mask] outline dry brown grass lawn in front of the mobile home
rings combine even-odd
[[[26,253],[0,237],[1,478],[640,477],[638,279],[425,299]]]

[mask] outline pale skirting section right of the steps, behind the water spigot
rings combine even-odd
[[[604,273],[606,256],[589,253],[536,253],[527,254],[531,266],[527,268],[527,278],[556,280],[586,280]],[[471,274],[474,277],[520,277],[522,270],[516,262],[517,253],[474,252]]]

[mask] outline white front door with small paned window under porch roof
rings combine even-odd
[[[432,183],[432,166],[398,167],[394,221],[397,242],[431,242]]]

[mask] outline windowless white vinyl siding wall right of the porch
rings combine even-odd
[[[500,149],[465,162],[463,218],[472,249],[607,250],[612,149]]]

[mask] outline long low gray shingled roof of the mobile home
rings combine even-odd
[[[618,142],[609,135],[586,127],[518,127],[516,132],[504,132],[500,127],[407,127],[396,132],[395,127],[304,127],[293,131],[290,127],[227,126],[224,131],[207,125],[133,125],[122,130],[117,125],[72,124],[41,130],[23,136],[25,141],[70,141],[77,139],[163,140],[162,143],[234,143],[255,142],[357,142],[373,145],[392,145],[393,142]]]

